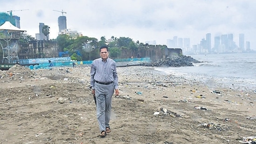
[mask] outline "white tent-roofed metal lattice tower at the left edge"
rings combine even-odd
[[[0,45],[3,50],[3,63],[19,62],[18,41],[25,30],[15,27],[10,21],[0,26]]]

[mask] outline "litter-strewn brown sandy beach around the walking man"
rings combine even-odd
[[[254,91],[212,89],[152,67],[117,70],[120,95],[104,138],[89,67],[0,71],[0,144],[242,144],[256,137]]]

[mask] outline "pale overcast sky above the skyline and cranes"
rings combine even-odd
[[[67,28],[100,40],[101,36],[129,37],[166,45],[173,36],[200,43],[214,36],[240,33],[256,50],[256,0],[0,0],[1,12],[21,17],[21,29],[35,37],[39,23],[50,27],[50,39],[58,35],[58,17],[67,17]],[[28,9],[28,10],[26,10]],[[20,11],[22,10],[22,11]]]

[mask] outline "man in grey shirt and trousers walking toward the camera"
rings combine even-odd
[[[90,86],[93,96],[96,96],[97,121],[99,124],[100,137],[105,137],[110,129],[112,96],[118,90],[118,73],[116,62],[109,58],[107,46],[99,49],[100,58],[94,60],[90,67]]]

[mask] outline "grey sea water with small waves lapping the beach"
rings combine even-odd
[[[193,67],[158,67],[156,70],[202,82],[212,89],[221,86],[256,92],[256,53],[187,56],[201,63],[193,63]]]

